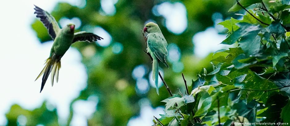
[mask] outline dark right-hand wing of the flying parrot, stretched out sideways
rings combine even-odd
[[[94,34],[94,33],[82,31],[82,32],[74,33],[73,43],[75,43],[77,41],[93,42],[93,41],[97,41],[97,40],[101,40],[101,39],[103,39],[103,38]]]

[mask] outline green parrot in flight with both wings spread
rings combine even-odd
[[[35,5],[34,5],[35,6]],[[77,41],[93,42],[103,39],[102,37],[89,33],[89,32],[76,32],[75,25],[72,23],[67,24],[64,28],[60,29],[56,20],[47,11],[42,10],[38,6],[34,8],[36,17],[40,18],[40,21],[48,29],[49,35],[52,37],[53,45],[50,50],[50,56],[45,62],[43,70],[40,72],[35,81],[43,74],[40,93],[43,90],[48,75],[51,74],[51,85],[53,86],[53,79],[56,78],[58,82],[58,73],[60,70],[60,59],[71,46],[71,44]]]

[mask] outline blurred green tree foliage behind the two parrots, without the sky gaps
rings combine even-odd
[[[151,60],[143,52],[146,49],[143,36],[140,29],[143,29],[144,23],[148,20],[154,20],[159,24],[168,44],[175,43],[180,48],[181,59],[184,64],[182,71],[185,78],[190,81],[196,79],[196,74],[206,68],[212,71],[210,64],[212,55],[205,59],[200,59],[193,54],[193,35],[213,26],[212,15],[215,12],[221,13],[224,17],[235,17],[233,13],[228,13],[228,9],[234,4],[232,0],[169,0],[169,2],[181,2],[186,7],[188,27],[180,35],[173,34],[165,27],[164,17],[156,17],[152,13],[152,8],[159,5],[164,0],[119,0],[116,4],[116,13],[113,16],[100,14],[101,5],[99,0],[87,0],[84,8],[71,6],[68,3],[58,3],[52,15],[59,21],[62,17],[69,19],[78,17],[81,20],[81,30],[88,30],[85,26],[100,26],[112,36],[112,43],[108,47],[101,47],[95,43],[75,43],[82,55],[82,62],[87,68],[88,80],[87,88],[82,90],[79,97],[72,101],[70,106],[70,116],[68,124],[73,116],[73,102],[83,99],[86,100],[90,95],[96,95],[99,98],[97,111],[93,117],[88,120],[89,125],[126,125],[132,116],[139,115],[139,99],[147,97],[153,107],[165,105],[160,102],[166,99],[169,94],[163,87],[160,88],[158,96],[154,88],[150,88],[146,94],[137,94],[135,91],[135,79],[132,78],[134,67],[145,64],[151,70]],[[33,9],[33,8],[31,8]],[[40,42],[51,40],[47,30],[39,19],[31,25],[37,33]],[[120,54],[112,52],[112,45],[119,42],[123,45],[123,51]],[[87,50],[92,51],[93,55],[88,55]],[[65,55],[64,55],[65,56]],[[100,62],[96,63],[98,58]],[[172,68],[171,64],[169,66]],[[164,66],[161,66],[164,67]],[[180,73],[175,73],[172,69],[164,68],[164,79],[173,93],[178,93],[181,85],[184,85]],[[145,75],[148,79],[148,73]],[[120,88],[125,87],[125,88]],[[184,86],[180,89],[184,91]],[[13,105],[7,113],[9,125],[16,125],[17,115],[27,116],[27,125],[57,124],[57,115],[55,110],[48,111],[45,104],[33,111],[27,111]]]

